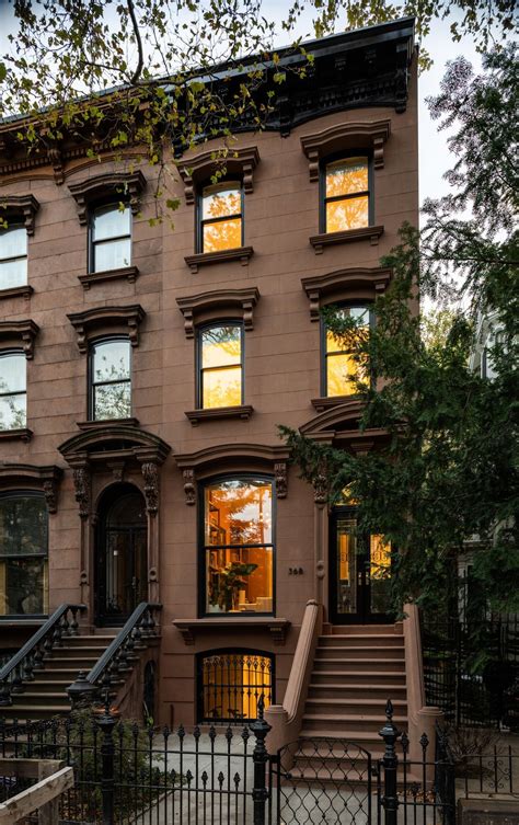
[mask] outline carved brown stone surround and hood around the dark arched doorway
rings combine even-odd
[[[160,475],[161,467],[171,451],[170,445],[140,427],[114,422],[72,436],[61,444],[59,451],[72,470],[81,520],[80,585],[83,604],[92,609],[96,501],[114,481],[128,481],[145,496],[149,598],[159,603]]]

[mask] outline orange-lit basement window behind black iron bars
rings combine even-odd
[[[273,702],[273,658],[255,651],[215,651],[198,658],[198,722],[252,722]]]

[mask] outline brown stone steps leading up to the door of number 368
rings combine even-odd
[[[333,627],[318,641],[293,779],[365,779],[367,757],[383,755],[379,731],[391,699],[393,722],[407,729],[404,637],[401,625]],[[347,744],[345,741],[347,740]]]

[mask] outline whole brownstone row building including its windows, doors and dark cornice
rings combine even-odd
[[[155,168],[72,144],[24,157],[20,125],[0,127],[1,651],[62,603],[101,648],[160,601],[147,702],[191,724],[282,699],[309,599],[328,630],[391,620],[388,548],[355,547],[355,512],[327,513],[277,425],[355,451],[384,438],[359,432],[319,310],[369,329],[380,257],[417,224],[413,33],[307,44],[313,71],[265,131],[244,125],[221,184],[218,140],[183,159],[174,230],[149,224]]]

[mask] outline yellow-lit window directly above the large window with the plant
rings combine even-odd
[[[243,325],[219,324],[198,332],[198,406],[243,403]]]

